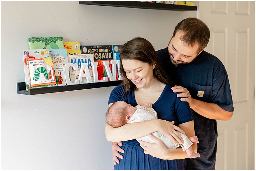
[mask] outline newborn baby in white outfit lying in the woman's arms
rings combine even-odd
[[[152,104],[146,103],[146,105],[137,105],[135,108],[124,101],[117,101],[113,103],[107,110],[106,122],[113,128],[118,128],[126,123],[143,122],[152,119],[157,119],[157,113],[152,108]],[[183,144],[174,144],[169,138],[160,134],[159,132],[153,132],[152,134],[159,138],[168,149],[176,149],[179,146],[183,151],[186,151],[188,158],[199,157],[200,154],[193,152],[191,145],[193,143],[199,143],[197,136],[188,138],[185,134],[178,132],[183,138]],[[149,135],[145,137],[136,138],[137,141],[142,140],[149,143],[156,143]],[[193,142],[193,143],[192,143]]]

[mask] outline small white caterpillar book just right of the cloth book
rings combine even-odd
[[[53,63],[56,84],[54,86],[66,85],[63,63]]]

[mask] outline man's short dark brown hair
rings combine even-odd
[[[195,43],[198,43],[197,54],[203,50],[210,40],[210,30],[208,26],[200,19],[187,18],[180,21],[174,29],[172,38],[177,32],[183,34],[180,37],[181,41],[193,48]]]

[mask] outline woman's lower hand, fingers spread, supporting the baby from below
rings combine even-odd
[[[143,148],[145,154],[149,154],[153,157],[166,160],[166,157],[168,155],[168,149],[164,145],[164,143],[156,138],[154,135],[149,135],[152,140],[156,142],[155,143],[147,143],[145,141],[139,140],[140,146]]]

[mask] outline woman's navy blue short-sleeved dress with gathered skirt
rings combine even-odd
[[[166,85],[159,99],[153,104],[158,119],[175,121],[174,125],[192,121],[193,115],[187,102],[180,101],[173,93],[170,86]],[[137,105],[134,91],[124,94],[122,86],[115,87],[109,97],[108,104],[116,101],[125,101],[133,107]],[[151,155],[144,154],[140,143],[136,140],[123,141],[121,147],[125,153],[119,159],[120,163],[114,166],[114,170],[185,170],[184,160],[162,160]]]

